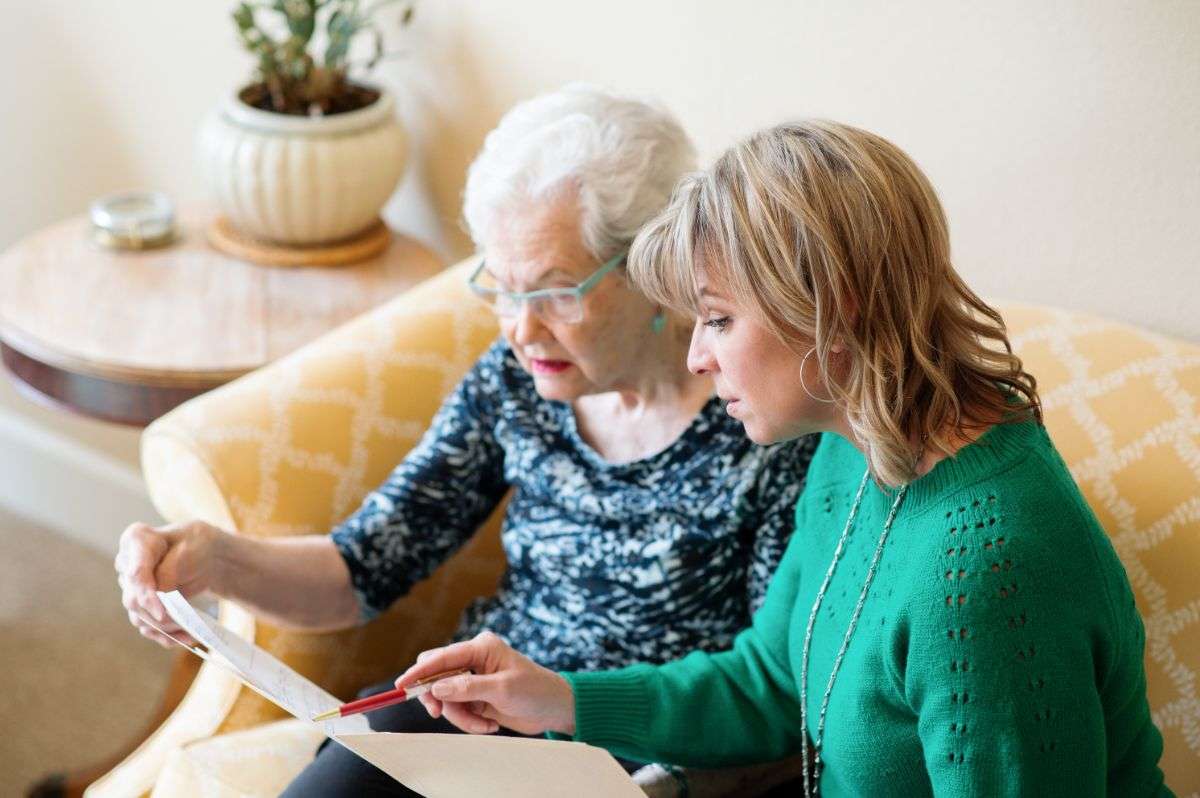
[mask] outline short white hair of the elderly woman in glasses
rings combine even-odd
[[[574,192],[583,245],[605,259],[695,168],[696,149],[668,112],[572,83],[515,106],[487,134],[467,173],[463,216],[482,248],[498,211]]]

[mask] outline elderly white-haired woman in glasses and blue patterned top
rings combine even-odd
[[[686,325],[626,280],[630,241],[692,160],[680,126],[642,102],[570,86],[514,108],[464,202],[485,256],[472,286],[502,340],[330,535],[130,527],[116,566],[132,623],[161,640],[144,619],[167,624],[155,589],[176,587],[293,628],[362,623],[511,491],[508,569],[460,637],[487,629],[546,667],[584,671],[727,647],[782,556],[814,446],[748,442],[712,380],[689,373]],[[415,704],[370,718],[455,731]],[[413,793],[325,745],[288,794]]]

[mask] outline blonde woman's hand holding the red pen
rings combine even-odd
[[[444,715],[473,734],[488,734],[500,726],[523,734],[575,733],[575,694],[566,679],[490,631],[422,653],[416,665],[396,679],[396,686],[409,688],[419,679],[457,668],[473,673],[434,682],[420,697],[433,718]]]

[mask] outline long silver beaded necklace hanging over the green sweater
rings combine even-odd
[[[829,563],[829,570],[826,571],[824,581],[821,583],[821,589],[817,590],[817,598],[812,602],[812,611],[809,613],[809,625],[804,630],[804,649],[800,655],[800,754],[804,758],[804,797],[816,798],[820,792],[821,784],[821,743],[824,739],[824,721],[826,712],[829,709],[829,696],[833,694],[833,684],[838,678],[838,671],[841,668],[841,661],[846,656],[846,649],[850,648],[850,638],[854,634],[854,628],[858,625],[858,617],[863,614],[863,605],[866,604],[866,593],[871,589],[871,582],[875,580],[875,569],[880,564],[880,558],[883,556],[883,544],[888,540],[888,532],[892,529],[892,522],[895,521],[896,510],[900,509],[900,502],[904,499],[904,494],[908,491],[908,486],[905,485],[896,493],[895,500],[892,502],[892,510],[888,512],[887,521],[883,522],[883,530],[880,533],[880,541],[875,545],[875,557],[871,559],[871,566],[866,570],[866,578],[863,581],[863,589],[858,594],[858,604],[854,605],[854,614],[850,618],[850,625],[846,626],[846,635],[841,640],[841,648],[838,649],[838,656],[834,659],[833,670],[829,672],[829,683],[826,684],[824,697],[821,700],[821,713],[817,715],[817,733],[812,739],[812,785],[809,786],[809,652],[812,648],[812,626],[817,620],[817,612],[821,610],[821,601],[824,599],[826,592],[829,589],[829,582],[833,581],[833,574],[838,570],[838,560],[841,559],[841,553],[846,548],[846,540],[850,539],[850,530],[854,526],[854,516],[858,515],[858,506],[863,503],[863,491],[866,490],[866,480],[870,478],[871,469],[868,468],[863,473],[863,481],[858,485],[858,493],[854,496],[854,504],[850,508],[850,515],[846,516],[846,528],[841,530],[841,539],[838,540],[838,547],[833,552],[833,562]]]

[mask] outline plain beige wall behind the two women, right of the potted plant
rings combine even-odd
[[[566,79],[661,97],[706,160],[827,116],[917,158],[983,293],[1200,340],[1200,2],[426,5],[446,217],[493,120]]]

